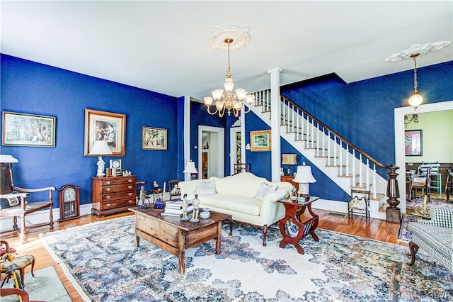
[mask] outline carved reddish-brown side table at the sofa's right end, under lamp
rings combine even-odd
[[[310,196],[309,201],[305,203],[297,203],[297,201],[292,201],[290,199],[280,200],[278,202],[283,203],[285,206],[285,217],[278,221],[278,226],[280,227],[280,233],[282,233],[283,239],[280,242],[280,247],[285,247],[287,244],[294,245],[299,254],[304,254],[304,249],[299,245],[299,240],[306,237],[306,235],[311,235],[314,240],[319,241],[318,235],[314,233],[316,228],[318,228],[319,216],[311,211],[311,203],[317,201],[319,197]],[[309,210],[311,218],[302,222],[302,216],[305,212],[305,208]],[[297,225],[298,232],[295,237],[291,237],[289,232],[287,233],[285,224],[287,222],[294,223]]]

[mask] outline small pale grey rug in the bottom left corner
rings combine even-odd
[[[13,282],[5,283],[4,287],[13,287]],[[45,267],[35,271],[35,277],[25,274],[25,291],[30,301],[71,302],[54,267]],[[18,296],[1,297],[1,302],[18,301]]]

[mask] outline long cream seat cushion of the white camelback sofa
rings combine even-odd
[[[258,199],[231,195],[228,198],[225,198],[221,194],[207,194],[199,195],[200,204],[203,206],[212,206],[217,208],[226,208],[232,211],[238,211],[248,215],[259,216],[261,211],[261,201]]]

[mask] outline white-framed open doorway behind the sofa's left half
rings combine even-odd
[[[198,179],[224,177],[224,128],[198,126]]]

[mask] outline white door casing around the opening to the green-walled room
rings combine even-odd
[[[434,104],[420,105],[417,108],[417,113],[427,113],[435,111],[451,110],[453,108],[453,101],[444,101]],[[404,116],[413,114],[413,107],[400,107],[394,109],[395,118],[395,164],[399,167],[398,173],[398,184],[400,191],[400,208],[401,213],[406,213],[406,156],[404,153]]]

